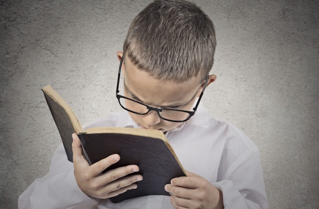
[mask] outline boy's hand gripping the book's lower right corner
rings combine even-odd
[[[224,208],[223,193],[205,178],[186,170],[187,177],[178,177],[165,185],[174,208]],[[167,188],[167,189],[166,189]]]

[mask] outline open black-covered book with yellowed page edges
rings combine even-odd
[[[172,178],[187,176],[162,131],[129,127],[91,127],[83,130],[73,110],[50,85],[41,90],[70,162],[73,162],[72,133],[76,133],[90,165],[109,155],[120,155],[120,160],[103,173],[127,165],[139,167],[139,171],[126,176],[140,174],[143,180],[135,182],[136,189],[110,197],[112,203],[147,195],[170,196],[164,186],[170,184]]]

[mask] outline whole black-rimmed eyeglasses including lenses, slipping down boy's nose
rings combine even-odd
[[[198,98],[197,104],[193,108],[194,111],[166,109],[166,108],[160,108],[160,107],[155,108],[155,107],[151,107],[149,105],[145,105],[145,104],[138,102],[134,99],[124,97],[124,96],[118,94],[120,92],[119,91],[119,83],[120,83],[120,75],[121,75],[123,57],[124,56],[122,56],[122,59],[120,62],[120,68],[119,68],[119,73],[118,73],[118,77],[117,77],[117,85],[116,85],[116,98],[119,101],[119,104],[121,105],[121,107],[123,109],[125,109],[129,112],[133,112],[133,113],[138,114],[138,115],[146,115],[151,110],[154,110],[157,112],[158,116],[161,119],[168,120],[171,122],[184,122],[195,114],[195,112],[197,110],[197,106],[198,106],[200,99],[202,98],[204,90],[206,88],[208,76],[206,78],[206,82],[205,82],[203,91]]]

